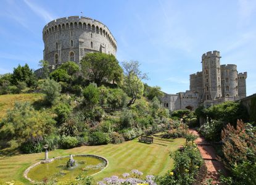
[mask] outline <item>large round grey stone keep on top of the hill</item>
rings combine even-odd
[[[43,41],[44,60],[49,62],[51,70],[67,61],[79,63],[88,52],[113,55],[117,52],[117,41],[109,28],[98,20],[82,16],[47,23],[43,28]]]

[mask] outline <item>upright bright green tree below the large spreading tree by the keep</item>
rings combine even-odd
[[[86,105],[93,108],[95,105],[99,103],[99,89],[97,89],[96,84],[89,84],[83,90],[83,96],[85,97]]]

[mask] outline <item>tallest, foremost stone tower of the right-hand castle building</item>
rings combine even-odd
[[[220,52],[209,51],[202,55],[203,101],[214,101],[221,94]]]

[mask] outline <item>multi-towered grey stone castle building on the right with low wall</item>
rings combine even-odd
[[[238,73],[234,64],[220,65],[220,52],[202,55],[202,72],[190,75],[189,91],[166,94],[163,107],[169,110],[195,110],[199,105],[210,107],[225,101],[246,97],[247,72]]]

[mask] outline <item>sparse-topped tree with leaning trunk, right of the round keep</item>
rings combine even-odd
[[[131,97],[131,100],[127,104],[127,107],[130,107],[143,94],[144,84],[141,80],[147,80],[148,78],[146,73],[142,73],[139,70],[140,64],[138,61],[131,60],[122,64],[125,73],[123,89]]]

